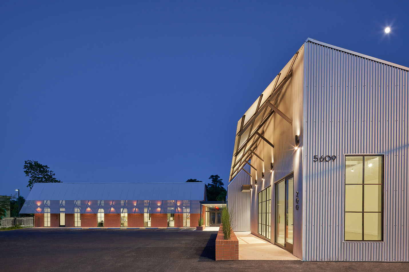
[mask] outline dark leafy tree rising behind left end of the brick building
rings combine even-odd
[[[34,183],[61,182],[54,178],[54,172],[50,171],[47,165],[42,165],[38,161],[24,161],[24,169],[24,173],[29,177],[27,187],[30,187],[30,190]]]

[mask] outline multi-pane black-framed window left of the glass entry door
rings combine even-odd
[[[258,193],[258,234],[270,239],[271,186]]]

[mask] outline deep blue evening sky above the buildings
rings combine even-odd
[[[2,1],[0,194],[27,196],[29,159],[63,182],[227,185],[237,120],[306,38],[409,66],[402,3]]]

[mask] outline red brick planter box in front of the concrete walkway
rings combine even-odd
[[[238,260],[238,239],[234,232],[231,232],[231,239],[223,239],[222,226],[216,237],[216,261]]]

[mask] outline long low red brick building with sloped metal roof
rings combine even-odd
[[[221,206],[205,183],[36,183],[21,213],[35,227],[196,227],[220,225]]]

